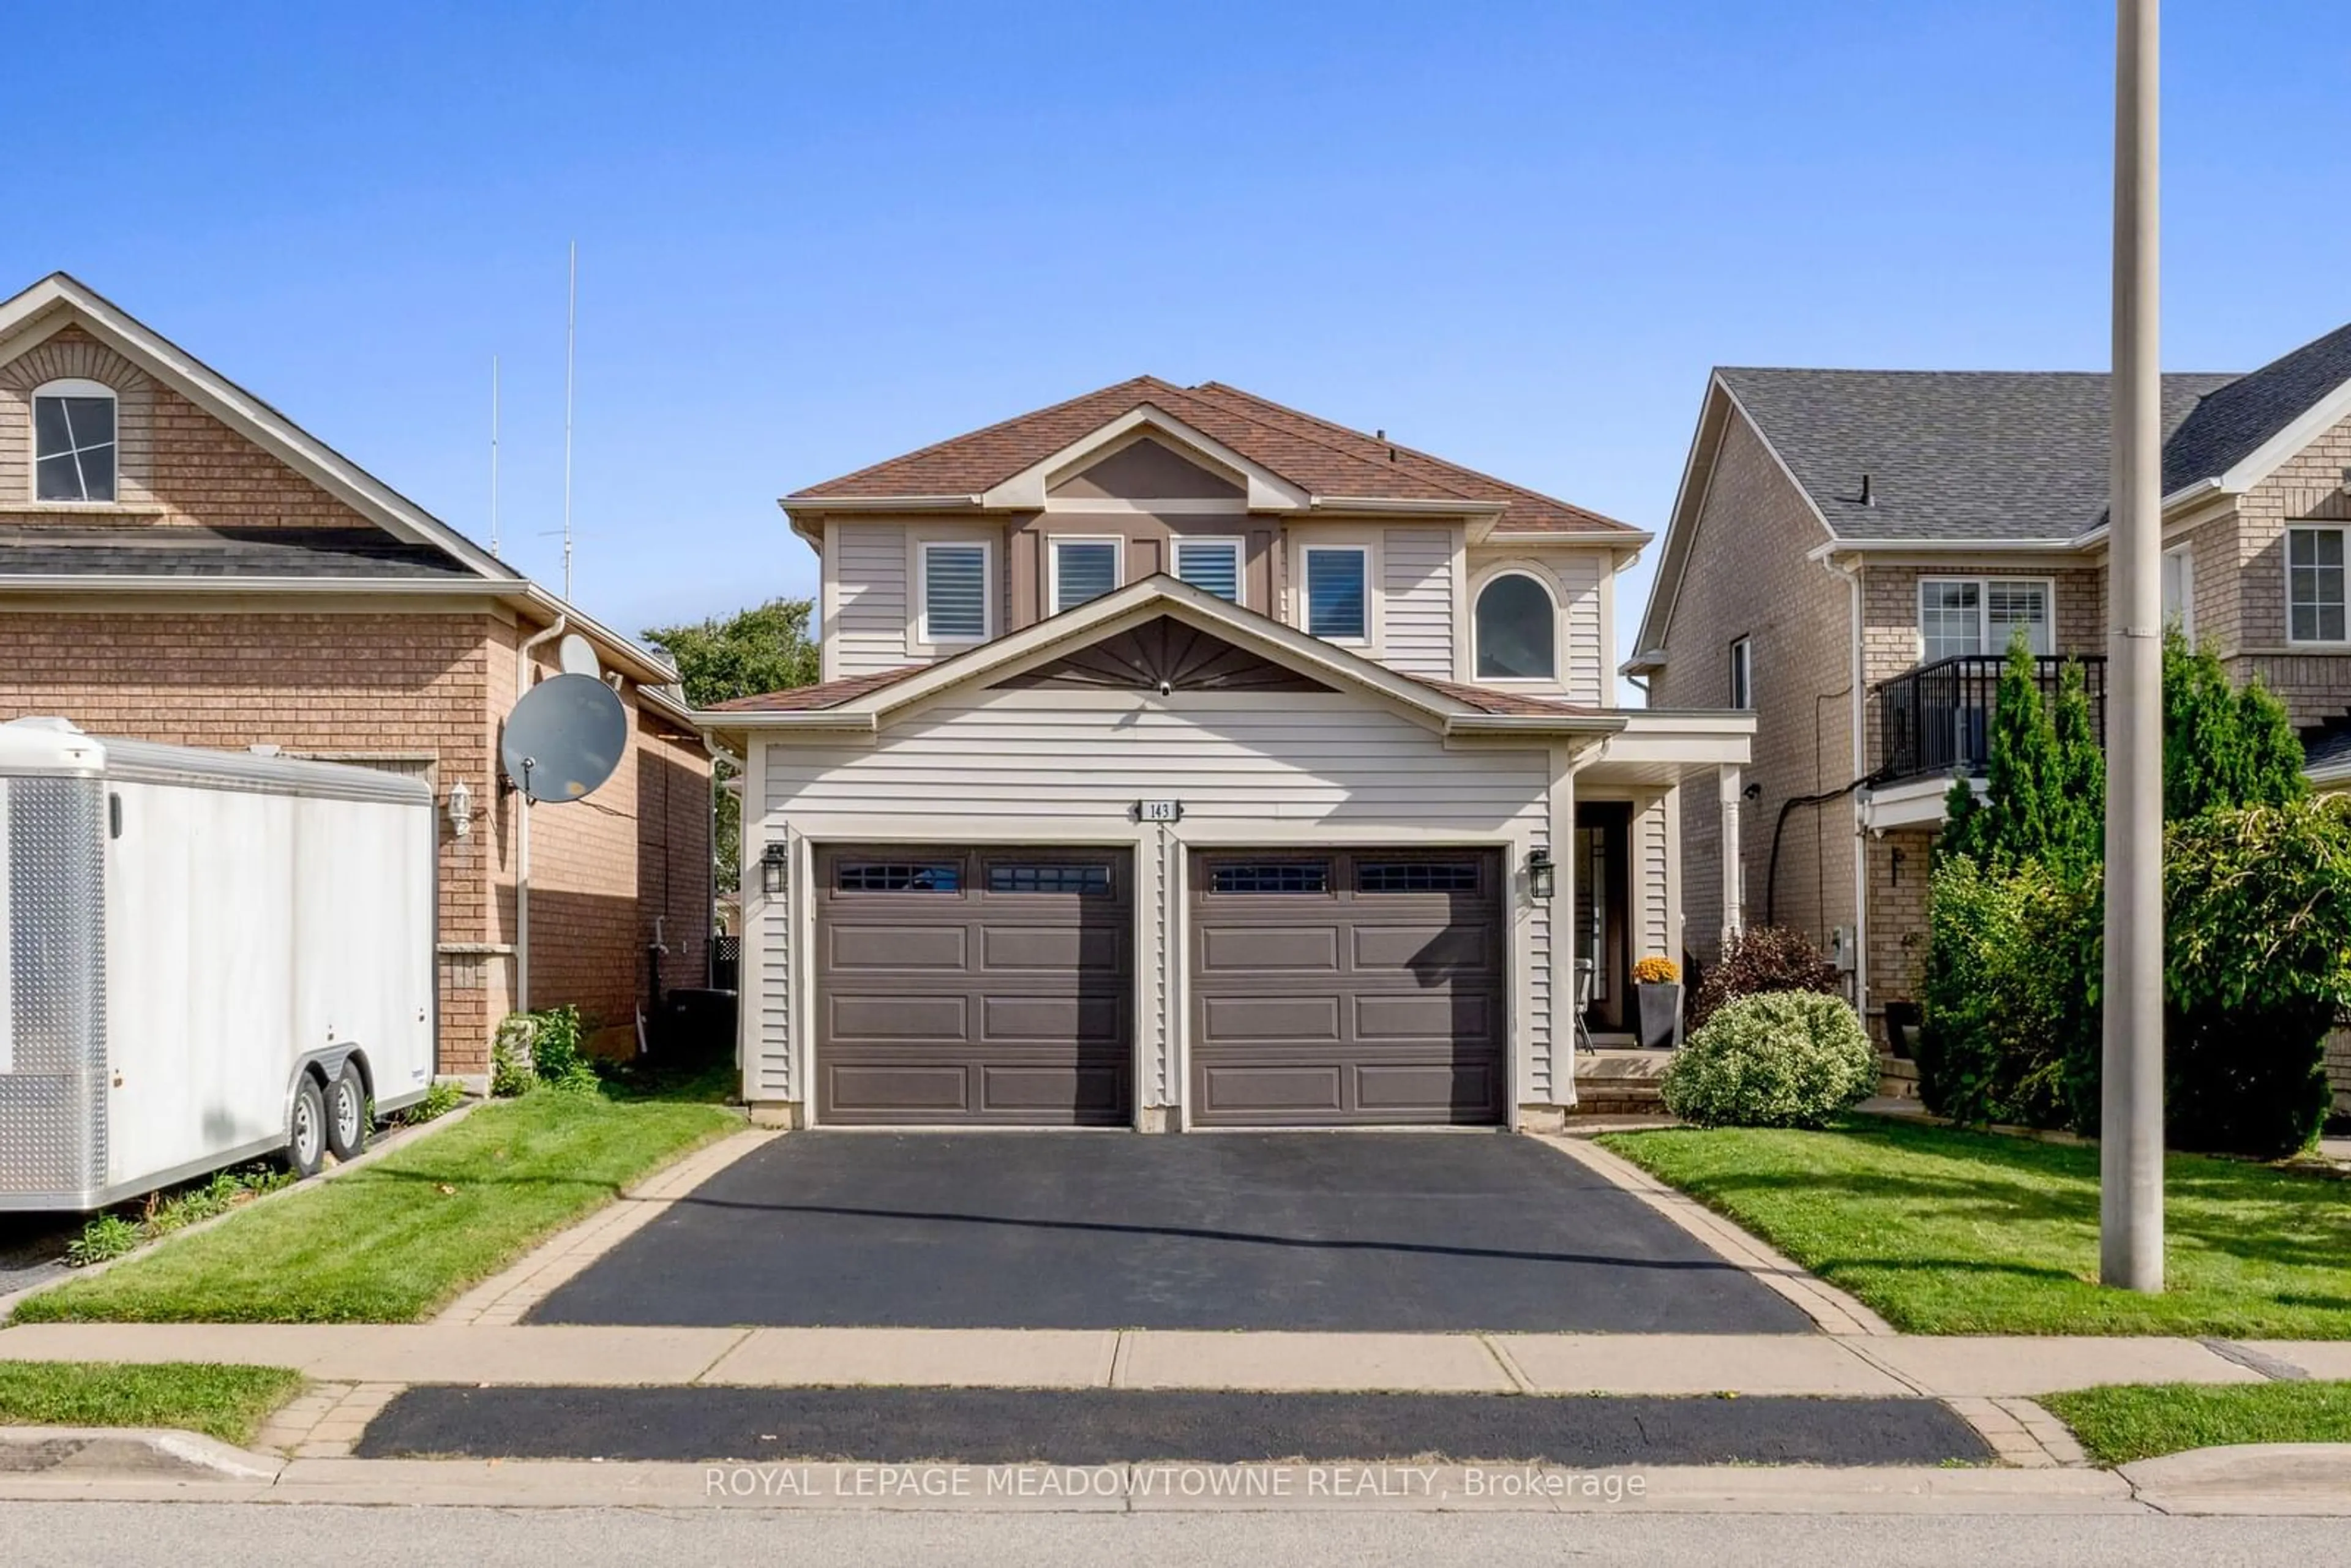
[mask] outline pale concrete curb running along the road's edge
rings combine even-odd
[[[19,1434],[0,1432],[0,1439]],[[2351,1446],[2205,1448],[2092,1469],[1540,1465],[656,1465],[277,1460],[188,1434],[148,1462],[0,1465],[0,1500],[400,1507],[1542,1514],[2351,1516]],[[165,1450],[169,1446],[169,1450]]]

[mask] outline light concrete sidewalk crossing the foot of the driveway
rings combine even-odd
[[[1596,1333],[26,1324],[9,1361],[247,1361],[322,1382],[1921,1394],[2351,1378],[2351,1342]],[[2269,1371],[2264,1371],[2269,1368]]]

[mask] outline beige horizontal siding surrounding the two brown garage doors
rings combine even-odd
[[[1138,1046],[1145,1103],[1166,1105],[1171,1020],[1180,1018],[1183,952],[1168,898],[1180,898],[1185,846],[1251,842],[1380,842],[1382,832],[1444,842],[1512,839],[1512,865],[1549,842],[1549,755],[1446,750],[1420,724],[1342,696],[1270,701],[1180,693],[1171,701],[1096,693],[997,691],[940,703],[886,729],[872,745],[769,743],[762,835],[809,839],[940,832],[1034,842],[1133,842],[1150,886],[1136,889],[1145,969]],[[1183,823],[1157,856],[1157,830],[1128,820],[1136,799],[1180,799]],[[1136,837],[1136,835],[1145,837]],[[1171,870],[1173,867],[1173,870]],[[1516,1093],[1552,1098],[1547,997],[1549,910],[1509,912]],[[785,969],[788,933],[762,926],[764,985]],[[762,1095],[790,1095],[790,1030],[762,997]],[[769,1034],[773,1018],[776,1034]]]

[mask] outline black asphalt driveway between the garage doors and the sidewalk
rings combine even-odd
[[[534,1324],[1803,1333],[1509,1133],[795,1133]]]

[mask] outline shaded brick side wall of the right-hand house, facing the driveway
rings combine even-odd
[[[1744,418],[1730,416],[1714,480],[1697,512],[1690,569],[1665,628],[1667,665],[1650,682],[1657,708],[1728,708],[1730,644],[1749,639],[1756,741],[1740,809],[1747,919],[1761,922],[1773,823],[1796,795],[1853,778],[1848,588],[1806,550],[1827,541],[1820,520],[1773,463]],[[1681,811],[1683,943],[1714,961],[1721,931],[1721,811],[1709,788]],[[1799,806],[1780,844],[1777,919],[1827,943],[1853,922],[1853,806]]]

